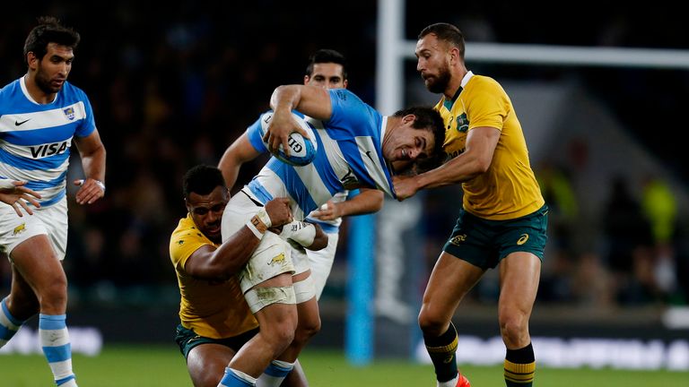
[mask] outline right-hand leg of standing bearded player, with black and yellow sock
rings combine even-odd
[[[533,385],[536,357],[528,332],[528,320],[536,301],[540,269],[538,257],[526,252],[512,253],[500,265],[498,318],[507,348],[504,376],[508,387]]]

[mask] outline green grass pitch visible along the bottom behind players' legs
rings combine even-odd
[[[301,364],[314,387],[432,387],[432,366],[404,360],[379,360],[371,366],[350,366],[342,353],[307,350]],[[188,387],[184,360],[174,346],[108,346],[97,357],[74,356],[79,384],[86,387]],[[474,387],[504,386],[501,366],[462,366]],[[52,385],[43,357],[0,356],[0,385],[42,387]],[[576,387],[687,387],[689,372],[615,371],[610,369],[539,368],[536,386]]]

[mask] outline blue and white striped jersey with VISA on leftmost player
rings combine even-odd
[[[65,197],[69,150],[74,136],[95,130],[83,90],[65,82],[55,100],[39,104],[24,77],[0,89],[0,178],[26,180],[45,207]]]

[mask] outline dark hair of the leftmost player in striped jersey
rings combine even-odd
[[[60,46],[72,49],[79,45],[82,39],[79,32],[60,24],[60,21],[53,16],[41,16],[38,19],[39,25],[29,32],[24,42],[24,63],[27,63],[26,55],[32,52],[36,57],[43,59],[48,52],[48,43],[57,43]]]

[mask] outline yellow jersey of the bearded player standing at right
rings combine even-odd
[[[453,103],[443,97],[435,106],[445,123],[443,150],[448,157],[455,158],[465,150],[467,133],[475,127],[501,131],[491,167],[462,183],[465,210],[491,220],[516,219],[538,210],[545,201],[510,97],[493,78],[471,72],[462,86]]]

